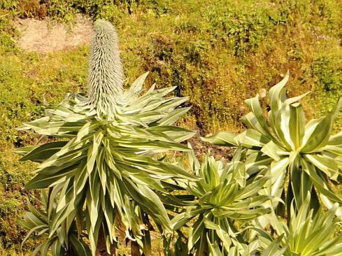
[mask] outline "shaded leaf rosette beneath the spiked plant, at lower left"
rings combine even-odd
[[[47,201],[47,194],[42,191],[40,201],[42,209],[36,209],[27,202],[29,212],[26,212],[23,219],[19,220],[19,224],[28,231],[22,243],[28,238],[45,240],[33,251],[32,256],[47,256],[49,249],[53,256],[90,256],[90,249],[83,241],[86,236],[84,233],[77,234],[76,223],[73,219],[65,220],[49,237],[49,216],[56,213],[56,204],[48,204]]]

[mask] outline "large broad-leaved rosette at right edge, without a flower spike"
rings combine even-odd
[[[239,135],[221,132],[203,140],[216,145],[241,145],[247,149],[246,166],[250,173],[257,171],[258,166],[269,166],[271,183],[266,189],[269,195],[285,199],[284,183],[289,177],[288,210],[292,199],[299,209],[308,191],[312,193],[311,203],[316,210],[320,205],[317,192],[328,208],[335,202],[341,204],[341,199],[330,188],[329,180],[341,181],[342,132],[332,135],[332,130],[342,98],[325,117],[306,123],[303,106],[298,102],[306,94],[287,98],[284,86],[288,79],[289,72],[270,89],[268,119],[257,95],[245,101],[250,109],[241,119],[248,127],[245,132]]]

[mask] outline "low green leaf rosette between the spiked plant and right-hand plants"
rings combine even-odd
[[[248,230],[244,226],[249,221],[269,213],[262,205],[270,200],[267,195],[259,195],[268,180],[266,176],[255,176],[246,180],[245,165],[236,153],[233,162],[224,159],[216,161],[206,156],[196,175],[199,181],[190,182],[188,192],[195,196],[186,211],[171,220],[174,230],[178,230],[191,220],[187,253],[204,255],[248,255],[258,248],[258,242],[248,243]],[[198,165],[197,165],[198,166]],[[181,234],[177,246],[184,252]],[[172,255],[170,252],[166,255]],[[184,255],[184,254],[175,254]]]

